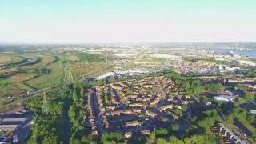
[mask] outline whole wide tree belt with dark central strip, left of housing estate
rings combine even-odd
[[[47,110],[42,114],[42,97],[32,98],[27,106],[35,120],[27,143],[94,143],[86,126],[88,111],[84,88],[76,83],[54,90],[47,95]]]

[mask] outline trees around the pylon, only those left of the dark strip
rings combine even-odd
[[[65,132],[64,110],[69,106],[70,90],[68,87],[54,90],[47,95],[47,107],[42,113],[42,97],[32,98],[27,105],[34,111],[35,119],[30,139],[27,143],[59,143],[63,142]]]

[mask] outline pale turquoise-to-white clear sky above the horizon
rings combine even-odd
[[[0,42],[256,42],[255,0],[0,0]]]

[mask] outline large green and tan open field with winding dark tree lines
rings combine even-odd
[[[66,82],[79,81],[112,70],[112,67],[96,54],[13,53],[5,54],[5,58],[15,59],[13,62],[22,61],[22,58],[38,59],[38,62],[0,70],[0,98],[31,89],[43,89]],[[3,58],[2,62],[4,62]]]

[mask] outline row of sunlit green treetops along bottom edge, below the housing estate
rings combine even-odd
[[[149,136],[134,136],[133,139],[130,139],[128,143],[157,143],[157,144],[215,144],[216,140],[213,136],[209,134],[194,134],[191,136],[186,136],[182,138],[177,138],[175,133],[178,131],[176,125],[172,126],[169,129],[160,128],[154,130],[150,133]],[[112,132],[102,134],[101,140],[99,143],[103,144],[117,144],[125,143],[126,138],[122,133]]]

